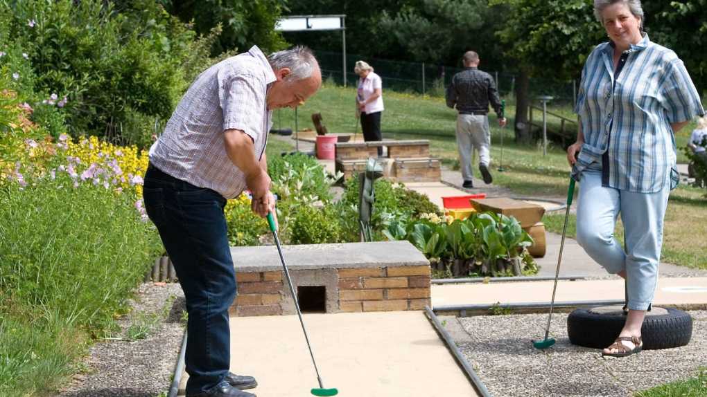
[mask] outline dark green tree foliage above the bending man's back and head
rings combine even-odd
[[[275,31],[275,23],[286,9],[286,0],[160,0],[165,9],[194,24],[199,35],[208,35],[217,25],[221,36],[214,43],[211,55],[239,49],[246,51],[257,45],[265,51],[287,47],[287,42]]]

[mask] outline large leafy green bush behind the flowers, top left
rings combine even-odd
[[[31,70],[20,72],[18,91],[36,93],[33,107],[51,94],[53,106],[66,97],[62,113],[75,137],[133,143],[123,140],[124,126],[135,114],[151,116],[136,118],[148,126],[168,118],[188,84],[182,63],[201,54],[195,33],[155,1],[125,4],[118,12],[100,0],[0,1],[0,42],[27,54],[0,58],[0,66]]]

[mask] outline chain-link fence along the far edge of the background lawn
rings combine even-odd
[[[344,70],[341,68],[343,56],[340,52],[315,51],[322,69],[322,78],[339,85],[344,84]],[[364,58],[358,54],[346,54],[346,84],[355,85],[358,75],[354,73],[356,61],[363,59],[373,66],[375,73],[380,75],[384,89],[399,92],[416,92],[432,96],[444,96],[445,88],[450,84],[452,76],[462,71],[462,68],[443,66],[430,63],[392,61],[390,59]],[[498,93],[503,98],[513,99],[516,75],[513,73],[486,71],[494,79]],[[529,83],[530,98],[540,95],[554,97],[556,104],[574,104],[578,80],[555,80],[548,78],[531,78]]]

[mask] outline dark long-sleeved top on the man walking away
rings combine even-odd
[[[498,118],[503,118],[501,99],[498,99],[496,83],[489,73],[478,68],[465,68],[452,77],[447,87],[447,106],[459,114],[487,114],[489,102]]]

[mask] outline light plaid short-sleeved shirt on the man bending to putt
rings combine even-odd
[[[150,151],[158,169],[200,188],[233,198],[245,190],[245,175],[223,142],[225,130],[242,130],[265,150],[271,111],[265,100],[275,74],[258,47],[216,63],[192,83]]]

